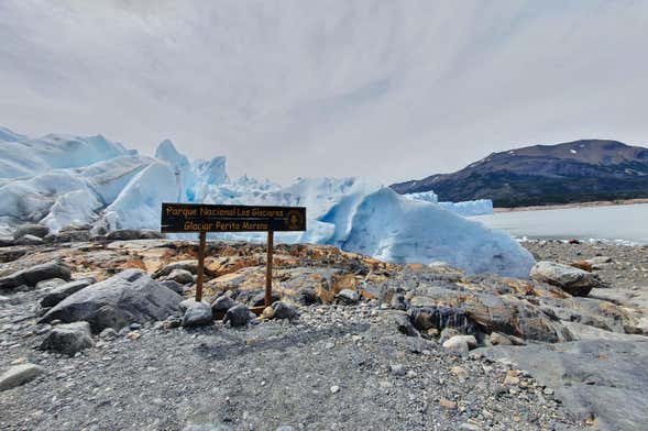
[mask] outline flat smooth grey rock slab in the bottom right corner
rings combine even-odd
[[[587,340],[479,352],[508,358],[550,387],[578,420],[603,430],[642,431],[648,411],[648,340]]]

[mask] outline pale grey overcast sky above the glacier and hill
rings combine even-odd
[[[0,125],[285,183],[648,143],[648,1],[0,0]]]

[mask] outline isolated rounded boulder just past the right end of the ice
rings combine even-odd
[[[595,274],[556,262],[538,262],[531,268],[530,276],[537,281],[558,286],[573,296],[587,296],[593,288],[603,287]]]

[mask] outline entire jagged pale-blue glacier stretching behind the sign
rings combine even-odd
[[[277,242],[336,245],[394,263],[446,262],[466,273],[527,277],[534,258],[504,232],[462,216],[492,212],[488,200],[439,202],[433,192],[400,196],[359,177],[297,178],[287,186],[232,179],[224,157],[190,161],[163,141],[153,157],[101,135],[40,139],[0,129],[0,234],[24,222],[52,232],[160,229],[162,202],[307,207],[305,232]],[[173,234],[172,237],[195,237]],[[262,242],[262,233],[210,237]]]

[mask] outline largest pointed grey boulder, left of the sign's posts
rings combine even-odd
[[[179,311],[183,297],[153,281],[144,272],[127,269],[65,298],[40,320],[87,321],[94,333],[130,323],[165,320]]]

